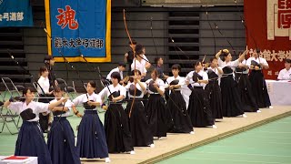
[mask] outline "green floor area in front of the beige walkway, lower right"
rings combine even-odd
[[[282,118],[235,136],[159,162],[203,164],[290,164],[291,117]]]

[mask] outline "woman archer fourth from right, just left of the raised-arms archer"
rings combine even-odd
[[[217,58],[210,58],[210,67],[207,68],[207,75],[210,78],[209,83],[206,85],[206,90],[209,93],[210,108],[212,115],[216,119],[223,118],[222,97],[219,87],[220,78],[224,73],[220,67],[218,67]]]

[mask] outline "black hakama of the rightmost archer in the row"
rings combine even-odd
[[[254,97],[258,108],[268,108],[271,106],[270,97],[267,93],[266,81],[261,70],[252,70],[249,75]]]

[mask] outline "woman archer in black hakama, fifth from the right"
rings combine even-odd
[[[196,61],[194,67],[194,71],[189,72],[186,76],[186,84],[192,90],[188,106],[192,126],[196,128],[207,126],[216,128],[215,119],[210,109],[209,97],[204,89],[208,84],[207,73],[203,70],[201,61]]]

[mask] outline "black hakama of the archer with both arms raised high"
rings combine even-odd
[[[221,78],[220,88],[222,95],[222,108],[224,117],[237,117],[244,114],[242,100],[238,94],[236,80],[233,77],[233,70],[230,67],[224,67],[225,77]]]

